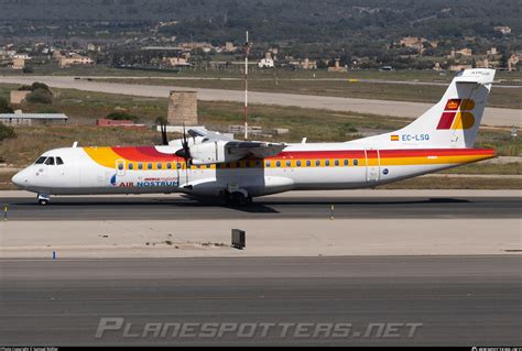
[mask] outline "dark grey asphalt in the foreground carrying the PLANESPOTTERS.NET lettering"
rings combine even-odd
[[[0,261],[4,344],[516,345],[520,256]],[[95,338],[100,318],[148,322],[347,322],[348,337]],[[370,323],[422,323],[412,338]],[[199,326],[199,325],[196,325]],[[197,327],[196,327],[196,330]],[[358,334],[357,332],[361,332]]]

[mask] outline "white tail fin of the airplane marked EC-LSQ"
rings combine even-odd
[[[472,147],[493,83],[494,69],[460,72],[441,101],[392,133],[365,140],[398,147]]]

